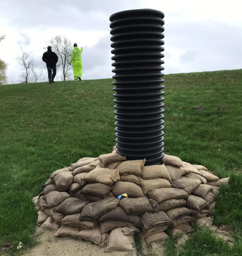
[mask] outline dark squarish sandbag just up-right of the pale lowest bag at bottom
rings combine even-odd
[[[171,219],[164,211],[147,212],[141,215],[141,223],[144,229],[154,226],[172,225]]]

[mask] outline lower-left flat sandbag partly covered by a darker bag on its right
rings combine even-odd
[[[61,225],[74,226],[80,229],[93,229],[98,223],[98,221],[79,220],[80,217],[80,213],[67,215],[61,220]]]

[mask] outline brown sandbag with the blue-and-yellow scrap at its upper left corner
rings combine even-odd
[[[147,197],[125,197],[120,200],[119,205],[127,214],[131,215],[141,215],[145,212],[153,212],[153,208],[151,207],[150,201]]]

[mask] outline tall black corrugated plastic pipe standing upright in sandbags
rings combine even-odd
[[[110,16],[117,153],[161,164],[164,151],[164,14],[137,9]]]

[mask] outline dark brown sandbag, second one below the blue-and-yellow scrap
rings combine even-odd
[[[141,219],[137,215],[129,215],[126,214],[124,209],[120,206],[116,207],[114,210],[106,212],[99,221],[124,221],[128,223],[132,223],[135,227],[140,227]]]

